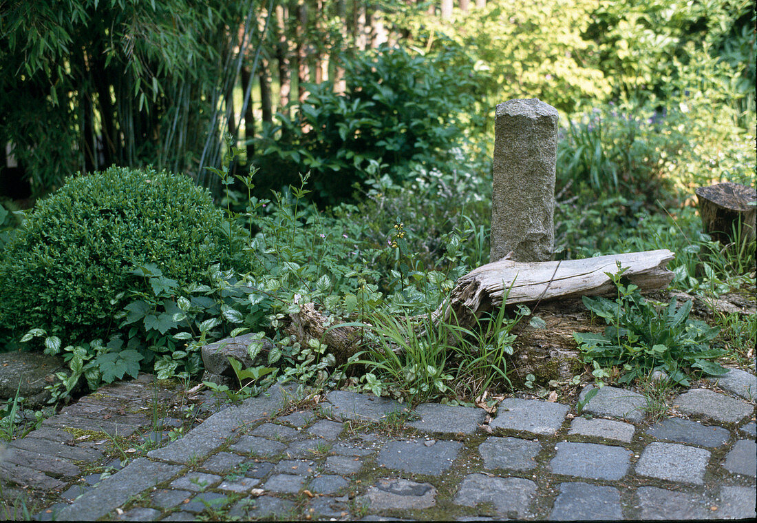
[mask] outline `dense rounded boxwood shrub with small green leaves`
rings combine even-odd
[[[230,248],[223,211],[184,175],[110,168],[71,178],[4,249],[0,328],[20,337],[41,327],[64,343],[105,339],[129,290],[148,291],[135,267],[157,265],[179,284],[214,263],[240,268],[232,252],[244,234],[232,227]]]

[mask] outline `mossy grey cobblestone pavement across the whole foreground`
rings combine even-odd
[[[0,461],[6,479],[67,499],[35,515],[42,520],[753,518],[757,380],[734,370],[712,385],[679,395],[677,417],[654,424],[643,420],[643,396],[614,387],[580,414],[508,398],[488,417],[438,404],[408,412],[345,391],[306,402],[274,386],[69,487],[102,456],[61,430],[86,424],[76,415],[96,402],[85,401]],[[126,432],[139,424],[118,419]]]

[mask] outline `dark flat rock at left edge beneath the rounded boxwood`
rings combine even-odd
[[[0,402],[19,396],[25,399],[27,409],[42,409],[50,399],[45,387],[55,383],[56,372],[71,371],[60,356],[39,352],[0,353]]]

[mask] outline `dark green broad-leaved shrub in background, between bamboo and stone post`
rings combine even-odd
[[[400,182],[414,165],[443,164],[462,145],[461,112],[473,103],[466,68],[448,66],[443,53],[429,58],[387,46],[345,57],[344,67],[344,94],[328,82],[309,86],[296,117],[277,114],[279,124],[257,139],[255,163],[275,174],[264,188],[278,190],[310,171],[315,198],[338,202],[378,165]]]

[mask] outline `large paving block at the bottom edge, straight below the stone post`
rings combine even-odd
[[[535,494],[536,484],[533,481],[468,474],[460,484],[453,503],[463,506],[491,503],[498,515],[507,518],[512,518],[513,515],[516,518],[528,518],[528,506]]]

